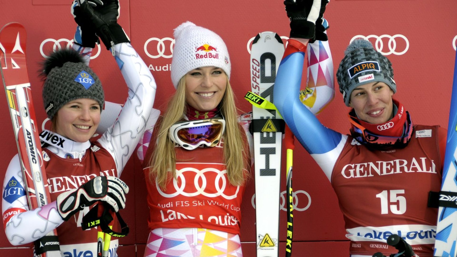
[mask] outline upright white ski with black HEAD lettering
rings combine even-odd
[[[281,37],[261,32],[252,42],[251,90],[273,102],[276,71],[284,53]],[[252,107],[255,159],[255,229],[257,257],[279,254],[281,151],[284,121],[275,109]]]

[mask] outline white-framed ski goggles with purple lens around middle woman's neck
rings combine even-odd
[[[200,145],[217,145],[225,131],[223,118],[185,120],[173,124],[169,129],[170,139],[186,150],[194,150]]]

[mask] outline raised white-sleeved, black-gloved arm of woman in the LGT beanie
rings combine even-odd
[[[82,33],[83,25],[90,23],[106,48],[111,50],[128,86],[128,98],[117,120],[99,139],[100,144],[113,156],[120,175],[145,131],[154,103],[156,84],[148,66],[133,49],[122,27],[117,24],[117,0],[103,0],[103,5],[96,7],[91,7],[85,1],[73,9],[75,21],[82,27]]]

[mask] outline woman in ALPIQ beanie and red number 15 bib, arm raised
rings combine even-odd
[[[413,124],[406,107],[393,99],[392,64],[363,39],[347,47],[336,73],[343,101],[351,107],[350,134],[326,128],[298,97],[290,97],[300,87],[307,38],[289,39],[274,103],[335,190],[350,256],[397,253],[386,243],[393,234],[419,256],[433,256],[437,209],[426,206],[429,192],[440,190],[446,130]]]

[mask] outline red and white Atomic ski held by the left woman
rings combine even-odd
[[[22,176],[27,186],[30,209],[48,203],[49,191],[38,137],[32,90],[27,73],[26,30],[17,22],[0,30],[0,73],[16,138]],[[41,257],[60,257],[57,231],[35,241],[35,253]]]

